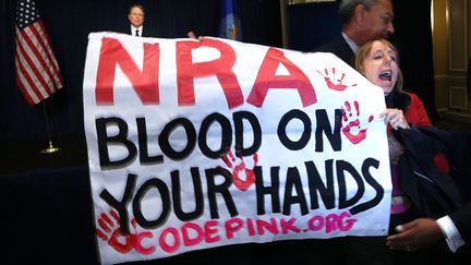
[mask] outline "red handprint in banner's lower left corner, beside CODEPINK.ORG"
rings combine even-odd
[[[112,217],[112,219],[110,218]],[[131,220],[134,228],[134,233],[122,234],[119,227],[119,216],[113,209],[110,209],[109,215],[102,213],[98,218],[99,228],[96,229],[98,238],[107,241],[111,248],[113,248],[119,253],[125,254],[130,252],[135,246],[136,233],[135,228],[137,226],[135,218]],[[124,241],[123,243],[120,241]]]

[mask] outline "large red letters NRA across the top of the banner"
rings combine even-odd
[[[192,50],[209,47],[220,52],[218,59],[193,62]],[[242,88],[232,68],[237,61],[234,49],[225,41],[206,38],[201,41],[182,40],[176,43],[177,48],[177,89],[179,106],[195,105],[194,80],[197,77],[216,76],[225,93],[228,107],[235,108],[244,104]],[[142,71],[131,55],[118,39],[102,38],[96,79],[96,104],[113,105],[113,84],[116,68],[119,65],[129,79],[135,93],[144,105],[159,104],[159,59],[158,44],[143,44],[144,58]],[[276,75],[282,64],[288,75]],[[286,58],[281,50],[269,48],[246,103],[262,107],[269,89],[297,89],[303,107],[313,105],[317,97],[313,85],[303,71]]]

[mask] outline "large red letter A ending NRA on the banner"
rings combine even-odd
[[[290,75],[275,75],[280,63],[286,67]],[[307,76],[288,60],[282,51],[275,48],[268,49],[246,101],[262,107],[269,88],[297,88],[303,107],[317,101],[314,87]]]

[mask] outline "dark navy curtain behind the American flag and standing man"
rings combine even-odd
[[[128,9],[146,9],[147,27],[158,37],[185,37],[190,29],[217,36],[221,0],[36,0],[59,62],[64,87],[45,100],[52,137],[83,135],[82,82],[87,36],[90,32],[128,28]],[[0,1],[0,143],[47,138],[43,104],[29,106],[14,74],[15,0]],[[281,46],[279,2],[238,0],[243,41]]]

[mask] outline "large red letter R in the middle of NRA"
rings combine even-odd
[[[193,62],[192,50],[200,47],[212,47],[220,52],[220,58],[207,62]],[[235,52],[228,44],[216,39],[201,41],[177,41],[177,84],[179,105],[194,105],[195,77],[216,75],[226,95],[229,108],[243,104],[242,89],[232,71]]]

